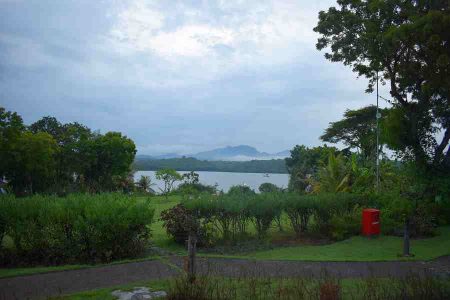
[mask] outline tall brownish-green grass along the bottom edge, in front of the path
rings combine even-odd
[[[171,281],[169,300],[228,299],[429,299],[450,297],[450,284],[431,276],[410,275],[406,278],[344,279],[323,274],[319,277],[214,277],[199,276],[194,282],[187,277]]]

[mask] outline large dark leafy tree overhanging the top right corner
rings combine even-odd
[[[389,83],[389,140],[421,166],[450,164],[450,13],[447,0],[339,0],[319,13],[319,50],[369,79]],[[388,122],[389,123],[389,122]],[[441,134],[439,134],[441,133]]]

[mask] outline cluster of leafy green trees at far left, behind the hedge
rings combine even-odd
[[[92,133],[78,123],[44,117],[27,128],[0,107],[0,177],[16,194],[130,191],[132,140],[118,132]]]

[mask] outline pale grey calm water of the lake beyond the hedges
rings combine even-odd
[[[188,173],[179,171],[180,174]],[[207,185],[215,185],[217,183],[218,189],[224,192],[233,185],[246,184],[250,188],[258,191],[258,187],[261,183],[270,182],[278,187],[287,187],[289,175],[288,174],[268,174],[269,177],[265,177],[261,173],[232,173],[232,172],[196,172],[199,174],[200,182]],[[163,187],[162,181],[156,180],[155,171],[137,171],[134,175],[135,180],[139,180],[141,175],[150,176],[152,182],[156,184],[153,189],[159,192],[157,187]]]

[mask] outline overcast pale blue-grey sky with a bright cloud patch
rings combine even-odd
[[[367,81],[315,49],[335,1],[0,0],[0,106],[140,154],[319,145]]]

